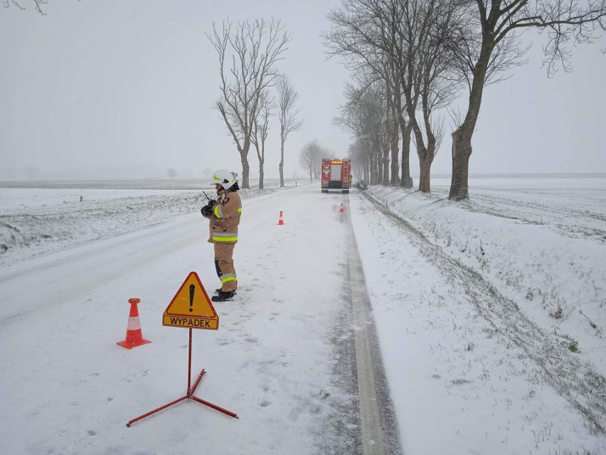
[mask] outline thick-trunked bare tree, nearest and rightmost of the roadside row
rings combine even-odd
[[[460,26],[452,44],[458,68],[467,78],[467,113],[452,133],[452,182],[450,199],[469,197],[469,157],[484,86],[503,70],[522,63],[524,48],[519,31],[538,28],[548,31],[543,48],[548,75],[558,64],[570,70],[567,44],[590,43],[597,31],[606,30],[604,0],[465,0],[467,23]]]

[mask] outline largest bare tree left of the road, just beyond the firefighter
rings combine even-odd
[[[240,154],[242,187],[249,188],[248,151],[253,123],[263,90],[275,83],[275,64],[282,60],[290,35],[279,20],[267,23],[255,19],[240,21],[237,26],[223,21],[221,31],[213,23],[213,32],[206,36],[219,58],[221,95],[216,108]]]

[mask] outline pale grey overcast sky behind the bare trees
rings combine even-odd
[[[349,135],[332,119],[348,73],[326,61],[320,36],[339,0],[50,0],[46,16],[33,0],[21,4],[28,9],[0,8],[0,179],[26,178],[27,166],[46,179],[241,172],[213,109],[218,59],[204,34],[228,17],[282,19],[292,34],[279,68],[299,93],[304,129],[289,137],[285,176],[304,175],[298,156],[309,140],[346,155]],[[536,41],[529,63],[484,91],[470,172],[606,172],[606,38],[576,49],[574,72],[552,79],[536,36],[525,38]],[[273,126],[266,177],[280,161]],[[450,174],[450,132],[433,174]],[[418,174],[414,151],[410,162]],[[252,148],[249,163],[253,178]]]

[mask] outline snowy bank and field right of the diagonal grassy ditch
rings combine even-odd
[[[601,181],[601,188],[578,192],[575,202],[567,188],[541,189],[521,201],[511,188],[492,187],[462,203],[443,191],[373,187],[369,193],[606,376],[606,178]],[[523,190],[526,199],[529,192]]]

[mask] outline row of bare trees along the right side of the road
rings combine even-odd
[[[451,111],[449,197],[467,199],[482,93],[524,63],[528,47],[521,32],[546,31],[548,75],[558,64],[570,70],[570,46],[590,43],[606,30],[606,1],[343,0],[329,20],[328,53],[352,73],[337,121],[356,138],[350,156],[363,178],[412,188],[412,139],[419,190],[429,192],[431,165],[446,132],[441,112],[466,89],[467,110]]]

